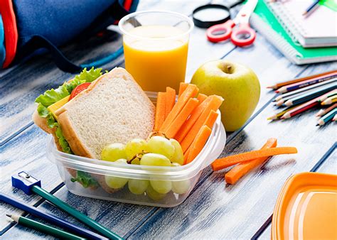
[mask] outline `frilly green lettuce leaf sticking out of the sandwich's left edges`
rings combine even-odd
[[[76,75],[73,80],[63,83],[57,89],[47,90],[44,94],[38,96],[35,102],[38,103],[38,115],[47,119],[47,125],[50,129],[55,127],[55,135],[58,138],[58,142],[65,153],[73,154],[70,149],[69,143],[65,140],[63,133],[58,125],[58,122],[54,118],[53,114],[48,110],[48,107],[60,99],[67,97],[73,92],[73,89],[79,84],[84,82],[92,82],[102,75],[102,68],[95,69],[92,67],[89,71],[85,68],[79,75]]]

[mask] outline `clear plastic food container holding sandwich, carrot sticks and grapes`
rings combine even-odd
[[[156,102],[154,92],[146,94],[152,102]],[[57,165],[63,182],[75,195],[156,207],[175,207],[186,200],[203,168],[218,158],[225,147],[226,133],[219,110],[218,114],[203,150],[187,165],[159,167],[83,158],[58,151],[52,137],[48,139],[47,157]],[[90,182],[90,186],[80,184],[75,181],[76,173],[93,182]],[[126,183],[122,188],[107,190],[104,186],[105,178],[118,178]],[[158,193],[151,187],[153,184],[166,185],[166,189],[171,187],[171,190],[166,194]]]

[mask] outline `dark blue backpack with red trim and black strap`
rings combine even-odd
[[[1,0],[0,68],[9,67],[41,48],[48,50],[65,72],[80,72],[83,67],[114,60],[123,53],[122,47],[95,62],[75,65],[58,46],[117,24],[120,18],[136,11],[138,3],[139,0]]]

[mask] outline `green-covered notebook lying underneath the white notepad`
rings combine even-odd
[[[250,24],[291,62],[297,65],[337,60],[337,47],[303,48],[277,21],[264,1],[258,1]]]

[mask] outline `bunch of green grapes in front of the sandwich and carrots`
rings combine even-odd
[[[112,143],[103,148],[102,160],[121,164],[137,164],[147,166],[177,167],[183,164],[183,150],[175,139],[163,136],[152,136],[148,141],[134,138],[127,144]],[[109,187],[120,189],[128,183],[129,191],[135,195],[146,192],[152,200],[161,200],[171,190],[176,194],[184,194],[191,187],[190,180],[141,180],[106,176]]]

